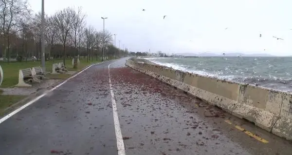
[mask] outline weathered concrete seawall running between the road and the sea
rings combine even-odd
[[[126,65],[179,88],[228,113],[254,122],[277,136],[292,140],[292,94],[268,88],[204,77],[148,60],[131,58]]]

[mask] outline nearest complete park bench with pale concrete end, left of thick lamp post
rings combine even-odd
[[[30,68],[20,69],[18,76],[18,87],[31,87],[32,85],[25,82],[33,82],[33,72]]]

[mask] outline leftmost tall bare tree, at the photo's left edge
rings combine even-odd
[[[0,32],[4,39],[4,56],[8,58],[8,62],[10,37],[20,31],[20,19],[28,18],[29,15],[30,9],[26,0],[0,0]]]

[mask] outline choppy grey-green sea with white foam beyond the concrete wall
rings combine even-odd
[[[292,57],[146,59],[190,73],[292,92]]]

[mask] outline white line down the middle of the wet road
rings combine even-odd
[[[117,62],[117,61],[115,61],[115,62]],[[113,62],[113,63],[115,63],[115,62]],[[111,63],[111,64],[113,64],[113,63]],[[116,138],[117,138],[118,155],[126,155],[121,126],[120,126],[120,121],[119,121],[119,116],[118,116],[117,104],[115,102],[115,97],[114,97],[112,84],[111,84],[111,80],[110,80],[110,65],[111,64],[109,64],[109,83],[110,83],[110,95],[111,95],[112,112],[113,112],[113,123],[114,123],[114,129],[116,132]]]

